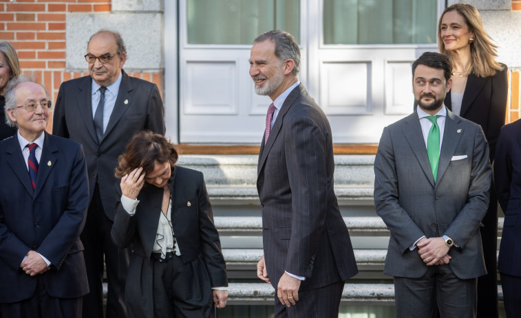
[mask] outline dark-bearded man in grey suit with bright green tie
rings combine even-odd
[[[412,64],[412,115],[384,128],[374,161],[374,205],[390,229],[384,273],[394,276],[396,317],[475,317],[484,275],[480,222],[491,168],[482,129],[444,105],[447,56]]]

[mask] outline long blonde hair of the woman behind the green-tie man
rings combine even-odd
[[[441,38],[441,20],[445,13],[450,11],[456,11],[461,14],[469,30],[474,32],[474,42],[470,44],[470,71],[481,78],[494,76],[497,71],[502,71],[503,66],[496,61],[498,56],[496,49],[498,46],[492,43],[492,38],[483,29],[483,23],[478,10],[466,3],[453,4],[445,8],[443,14],[441,14],[438,22],[438,47],[440,53],[452,59],[451,52],[445,49],[443,38]],[[454,63],[454,60],[452,62]]]

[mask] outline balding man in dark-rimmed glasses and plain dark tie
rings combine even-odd
[[[103,317],[103,264],[108,294],[105,317],[127,317],[124,291],[130,249],[118,249],[110,231],[116,204],[114,168],[140,130],[164,134],[163,104],[156,84],[123,71],[127,50],[120,34],[100,30],[87,46],[89,76],[61,84],[52,133],[85,147],[90,205],[81,240],[90,293],[83,317]]]

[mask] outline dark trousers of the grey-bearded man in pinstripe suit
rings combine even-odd
[[[338,318],[344,282],[299,291],[295,306],[281,304],[275,291],[275,318]]]

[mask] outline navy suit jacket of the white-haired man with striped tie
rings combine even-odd
[[[52,263],[43,273],[52,297],[88,293],[79,238],[89,203],[81,145],[45,133],[36,188],[32,190],[17,135],[0,141],[0,303],[34,295],[37,277],[20,264],[34,250]]]

